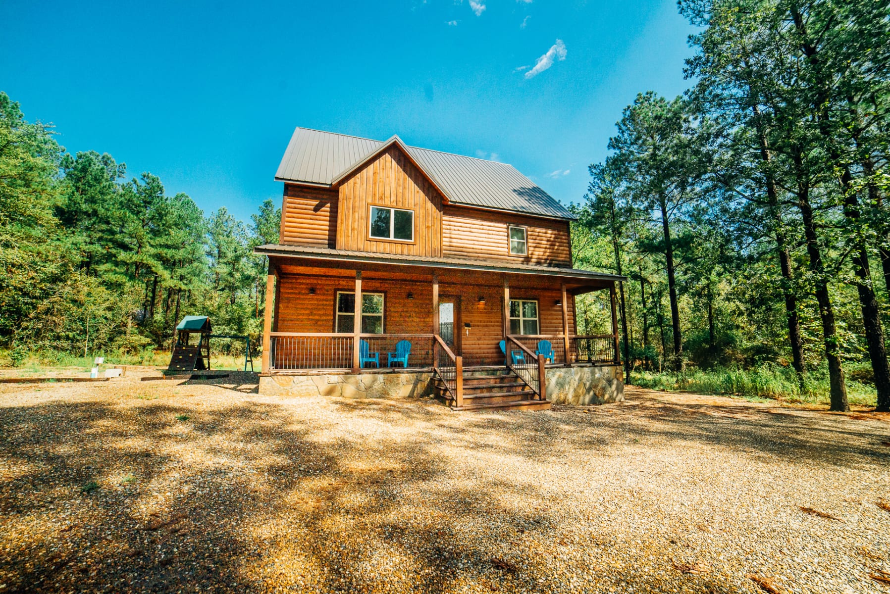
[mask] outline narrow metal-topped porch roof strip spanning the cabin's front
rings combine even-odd
[[[500,265],[494,262],[469,260],[466,258],[433,258],[429,256],[409,256],[392,253],[357,252],[336,250],[329,247],[313,247],[308,245],[258,245],[254,253],[266,256],[285,256],[307,258],[319,261],[354,261],[373,264],[394,264],[396,266],[423,266],[425,268],[481,270],[487,272],[503,272],[509,274],[545,275],[550,277],[573,278],[577,280],[602,280],[618,282],[627,277],[541,264],[509,264]]]

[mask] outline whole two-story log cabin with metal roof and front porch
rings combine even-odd
[[[438,391],[458,409],[623,394],[620,277],[571,268],[572,213],[511,165],[296,128],[269,257],[262,393]],[[612,333],[575,296],[611,295]],[[543,381],[542,381],[543,380]]]

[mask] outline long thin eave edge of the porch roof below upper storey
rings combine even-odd
[[[438,269],[464,269],[479,270],[481,272],[499,272],[503,274],[520,274],[544,277],[562,277],[572,278],[575,280],[599,280],[599,281],[625,281],[627,277],[619,277],[618,275],[605,274],[602,272],[578,272],[574,269],[517,269],[509,266],[491,266],[487,264],[473,263],[455,263],[449,261],[416,261],[416,260],[400,260],[397,258],[369,258],[368,256],[335,254],[335,253],[307,253],[295,252],[291,250],[280,250],[275,248],[264,248],[263,245],[254,248],[254,253],[265,256],[281,256],[285,258],[305,258],[308,260],[321,261],[349,261],[356,263],[369,264],[392,264],[394,266],[413,266],[417,268],[438,268]]]

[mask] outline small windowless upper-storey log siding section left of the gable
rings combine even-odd
[[[334,247],[338,197],[336,189],[286,183],[279,242]]]

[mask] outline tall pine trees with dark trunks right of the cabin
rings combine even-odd
[[[669,99],[637,95],[574,205],[577,264],[628,278],[626,372],[780,365],[890,410],[890,4],[680,0]]]

